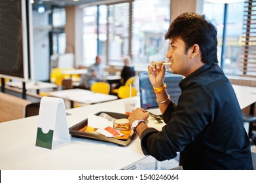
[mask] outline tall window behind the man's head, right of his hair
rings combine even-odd
[[[223,71],[226,75],[238,76],[240,71],[240,54],[242,48],[242,24],[244,14],[244,2],[230,3],[227,5],[227,20],[225,32],[225,50],[223,46],[223,27],[225,5],[204,2],[204,14],[217,27],[218,60],[223,62]],[[223,52],[223,53],[222,53]],[[223,58],[221,58],[223,54]]]

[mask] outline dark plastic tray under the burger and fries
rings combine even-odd
[[[95,115],[99,116],[101,113],[108,114],[109,116],[116,118],[116,119],[128,118],[128,115],[126,115],[126,114],[120,114],[120,113],[115,113],[115,112],[98,112]],[[71,137],[111,142],[114,144],[119,144],[120,146],[128,146],[137,137],[136,132],[134,132],[129,139],[114,139],[114,138],[110,138],[110,137],[105,137],[104,135],[100,135],[100,134],[79,131],[80,129],[82,129],[82,127],[87,125],[87,122],[88,122],[88,119],[85,119],[85,120],[82,120],[82,122],[79,122],[78,124],[73,125],[72,127],[69,127],[69,133],[71,134]]]

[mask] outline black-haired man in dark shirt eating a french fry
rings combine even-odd
[[[163,161],[180,152],[183,169],[253,169],[251,143],[236,94],[217,64],[217,30],[205,16],[183,13],[166,33],[168,67],[185,76],[176,103],[164,84],[166,63],[148,66],[149,80],[166,125],[147,127],[149,112],[136,108],[128,120],[141,138],[143,153]]]

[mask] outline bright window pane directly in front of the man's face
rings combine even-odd
[[[164,35],[170,26],[170,1],[134,1],[132,58],[136,67],[166,58],[168,41]]]

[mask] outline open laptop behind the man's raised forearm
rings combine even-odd
[[[183,80],[183,76],[175,75],[166,71],[164,82],[167,85],[167,92],[170,98],[177,103],[179,95],[181,95],[181,89],[179,88],[179,82]],[[153,90],[153,86],[149,81],[149,75],[147,72],[139,73],[139,98],[141,108],[151,112],[155,115],[160,115],[160,109],[156,102],[156,95]]]

